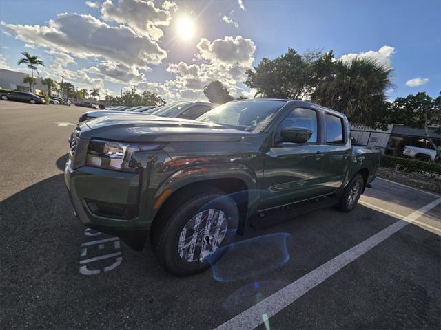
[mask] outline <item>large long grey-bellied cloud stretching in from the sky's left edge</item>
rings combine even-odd
[[[100,57],[126,65],[147,68],[167,56],[149,36],[140,36],[124,25],[112,27],[91,15],[59,14],[48,25],[21,25],[1,22],[17,39],[38,47],[48,47],[79,58]]]

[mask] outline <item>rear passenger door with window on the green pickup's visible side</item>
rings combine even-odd
[[[325,113],[325,160],[322,168],[322,186],[325,192],[338,189],[351,161],[352,148],[345,118]]]

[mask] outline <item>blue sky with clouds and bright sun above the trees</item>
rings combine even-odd
[[[391,100],[441,91],[441,0],[1,0],[0,68],[21,52],[45,63],[41,77],[104,94],[154,91],[206,100],[220,80],[252,96],[245,71],[288,47],[368,56],[393,67]]]

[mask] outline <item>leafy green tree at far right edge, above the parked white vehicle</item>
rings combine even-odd
[[[383,118],[387,124],[403,124],[417,129],[424,129],[427,140],[438,155],[440,149],[429,135],[429,126],[435,126],[435,132],[441,132],[441,96],[431,98],[424,92],[410,94],[405,98],[396,98]]]

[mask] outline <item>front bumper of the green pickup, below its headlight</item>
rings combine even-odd
[[[142,250],[147,223],[139,216],[140,174],[73,164],[70,156],[64,178],[76,217],[85,226]]]

